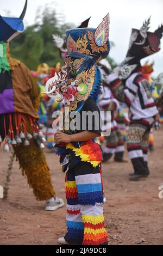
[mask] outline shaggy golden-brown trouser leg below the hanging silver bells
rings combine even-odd
[[[32,130],[28,119],[26,119],[26,129],[29,133]],[[36,199],[48,200],[55,196],[45,155],[42,149],[35,143],[34,139],[30,139],[30,145],[28,147],[20,144],[13,148],[22,174],[27,175],[28,184],[33,188]]]

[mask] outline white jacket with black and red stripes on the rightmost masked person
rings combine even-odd
[[[130,118],[133,120],[146,119],[158,114],[150,84],[140,72],[132,74],[127,79],[125,87],[116,74],[109,75],[106,81],[117,99],[127,103]]]

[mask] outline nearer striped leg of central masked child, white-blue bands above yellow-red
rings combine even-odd
[[[103,188],[100,167],[80,162],[75,168],[78,202],[84,225],[83,245],[107,245],[104,228]]]

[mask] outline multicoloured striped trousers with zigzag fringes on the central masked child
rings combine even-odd
[[[107,245],[101,169],[80,162],[66,174],[67,234],[72,245]]]

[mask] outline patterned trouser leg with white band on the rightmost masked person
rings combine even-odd
[[[140,123],[131,123],[127,135],[127,149],[134,167],[134,174],[147,175],[148,168],[145,166],[141,147],[142,138],[147,127]]]

